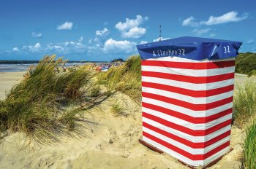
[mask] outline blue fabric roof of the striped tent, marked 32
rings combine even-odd
[[[180,57],[192,60],[223,59],[238,55],[242,42],[184,36],[165,41],[137,45],[142,60]]]

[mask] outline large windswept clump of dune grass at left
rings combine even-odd
[[[75,130],[79,113],[64,106],[80,97],[91,75],[84,68],[57,73],[62,63],[55,55],[46,56],[0,101],[0,138],[7,132],[21,132],[50,144],[59,141],[58,135]]]

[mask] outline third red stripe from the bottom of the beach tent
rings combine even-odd
[[[146,112],[142,113],[143,117],[146,117],[148,119],[151,119],[155,122],[159,122],[162,125],[165,125],[166,127],[173,128],[175,130],[181,131],[182,133],[187,133],[189,135],[193,136],[205,136],[211,133],[214,133],[215,131],[222,129],[223,127],[226,127],[227,125],[231,124],[232,119],[227,119],[225,122],[221,122],[218,125],[214,125],[213,127],[210,127],[206,130],[192,130],[188,127],[184,127],[181,125],[177,125],[176,123],[169,122],[165,119],[162,119],[160,117],[153,116],[151,114],[147,114]]]

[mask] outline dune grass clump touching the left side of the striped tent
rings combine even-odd
[[[99,84],[105,84],[108,90],[129,95],[137,103],[141,101],[140,56],[128,58],[122,66],[110,68],[98,76]]]

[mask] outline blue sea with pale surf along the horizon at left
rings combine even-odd
[[[26,71],[32,65],[37,66],[37,60],[0,60],[1,71]],[[85,63],[78,61],[67,62],[65,66],[80,66]]]

